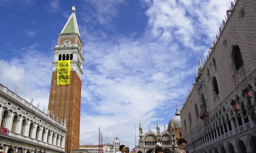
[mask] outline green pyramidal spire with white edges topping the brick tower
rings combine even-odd
[[[75,13],[76,8],[72,7],[72,10],[73,10],[73,12],[72,12],[70,18],[68,18],[68,21],[65,24],[64,28],[61,30],[61,34],[63,34],[63,33],[77,33],[80,37],[80,33],[79,33],[77,21],[76,21],[76,13]]]

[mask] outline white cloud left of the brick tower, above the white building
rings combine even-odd
[[[40,103],[40,109],[47,110],[51,84],[51,58],[36,50],[39,44],[21,48],[19,58],[13,57],[10,61],[0,60],[0,81],[4,86],[26,100],[34,99],[34,105]]]

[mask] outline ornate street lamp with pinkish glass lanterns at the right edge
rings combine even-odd
[[[230,105],[232,105],[234,112],[238,114],[239,118],[244,119],[244,118],[247,118],[248,115],[252,115],[253,120],[256,121],[256,106],[254,104],[252,104],[252,100],[251,100],[253,97],[252,91],[253,90],[251,88],[244,89],[245,97],[248,99],[248,104],[245,107],[245,115],[242,113],[239,113],[239,110],[240,110],[239,100],[232,99]]]

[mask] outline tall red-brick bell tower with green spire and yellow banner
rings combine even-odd
[[[54,59],[52,69],[52,81],[48,104],[48,114],[66,124],[65,151],[79,150],[80,136],[80,106],[81,106],[81,81],[82,81],[82,40],[76,21],[75,7],[67,23],[58,34],[58,45],[53,48]],[[60,63],[68,66],[60,68]],[[63,66],[62,65],[62,66]],[[63,72],[66,77],[60,77]],[[60,84],[60,79],[66,79],[66,84]],[[68,81],[67,81],[68,80]]]

